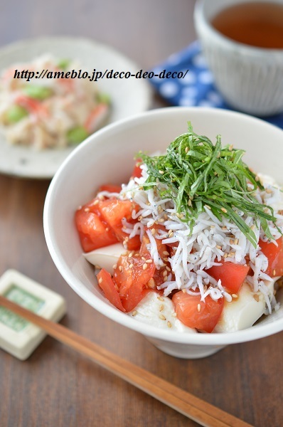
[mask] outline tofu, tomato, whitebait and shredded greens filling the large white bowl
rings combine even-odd
[[[278,310],[283,198],[245,151],[188,132],[165,154],[140,152],[127,184],[75,212],[107,300],[184,333],[234,332]]]

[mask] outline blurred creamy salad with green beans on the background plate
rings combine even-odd
[[[46,54],[1,72],[0,127],[7,142],[36,149],[68,147],[105,124],[109,97],[88,79],[63,77],[78,68],[75,60]],[[21,70],[36,77],[15,78]]]

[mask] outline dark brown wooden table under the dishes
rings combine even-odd
[[[193,0],[6,1],[0,43],[86,36],[146,69],[193,41],[193,6]],[[95,312],[60,277],[48,253],[42,221],[48,185],[0,175],[0,274],[16,268],[59,292],[68,302],[63,325],[119,356],[252,425],[282,426],[283,334],[183,360]],[[1,427],[196,426],[50,337],[26,362],[0,350],[0,386]]]

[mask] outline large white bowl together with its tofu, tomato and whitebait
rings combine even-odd
[[[63,162],[46,197],[46,241],[60,274],[95,310],[174,357],[207,357],[282,331],[282,136],[254,117],[198,107],[99,130]],[[191,172],[182,174],[185,157]],[[129,203],[131,215],[121,214]],[[97,216],[105,228],[84,246],[82,221]]]

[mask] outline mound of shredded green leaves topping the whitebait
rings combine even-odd
[[[149,189],[166,184],[160,186],[161,198],[173,199],[176,213],[183,214],[182,221],[189,223],[191,231],[206,205],[219,220],[225,216],[235,223],[255,248],[255,233],[243,221],[240,212],[259,219],[266,236],[274,240],[267,224],[272,221],[276,226],[274,211],[255,199],[255,190],[264,187],[242,162],[245,150],[233,149],[229,145],[222,147],[220,135],[213,145],[207,137],[196,135],[188,122],[188,132],[171,142],[166,151],[167,154],[156,157],[138,154],[149,174],[143,186]],[[252,190],[248,188],[248,182],[252,184]]]

